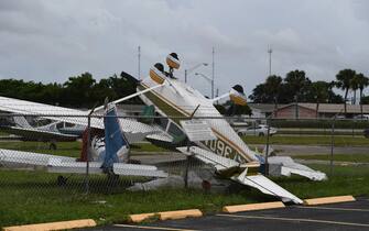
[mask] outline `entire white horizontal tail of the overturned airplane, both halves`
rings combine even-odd
[[[249,174],[247,165],[239,164],[238,162],[219,156],[213,152],[203,150],[197,146],[191,146],[189,153],[187,147],[178,147],[180,152],[188,156],[194,156],[205,164],[213,165],[220,175],[226,175],[230,179],[238,182],[242,185],[247,185],[259,189],[263,194],[280,197],[283,201],[293,201],[295,204],[302,204],[303,201],[285,190],[281,186],[276,185],[272,180],[268,179],[260,174]],[[250,163],[249,163],[250,164]]]

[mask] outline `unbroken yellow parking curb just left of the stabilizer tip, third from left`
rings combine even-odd
[[[263,210],[263,209],[276,209],[284,208],[284,204],[282,201],[273,201],[273,202],[258,202],[258,204],[247,204],[247,205],[237,205],[237,206],[225,206],[223,207],[224,212],[235,213],[241,211],[252,211],[252,210]]]

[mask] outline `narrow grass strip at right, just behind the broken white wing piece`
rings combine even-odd
[[[327,155],[306,154],[306,155],[294,156],[294,158],[330,161],[330,154]],[[333,161],[369,163],[369,154],[336,154],[333,155]]]

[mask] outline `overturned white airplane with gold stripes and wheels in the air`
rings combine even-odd
[[[229,97],[236,105],[246,105],[242,87],[236,85],[229,92],[215,99],[207,99],[199,91],[175,78],[174,69],[180,68],[180,61],[175,53],[166,57],[166,64],[169,72],[164,70],[162,64],[155,64],[150,69],[149,77],[137,81],[138,92],[146,91],[140,95],[143,102],[154,106],[161,116],[172,118],[164,122],[165,134],[152,134],[146,139],[156,144],[183,144],[181,131],[185,132],[180,122],[181,118],[203,118],[209,124],[216,140],[193,142],[189,148],[187,146],[177,147],[180,152],[213,166],[219,178],[228,178],[254,187],[264,194],[280,197],[283,201],[301,204],[300,198],[259,174],[260,165],[264,164],[263,157],[247,146],[214,107],[214,102],[225,97]],[[173,127],[172,132],[171,127]],[[182,139],[177,139],[180,136]],[[299,174],[315,180],[326,178],[324,173],[296,164],[290,157],[275,156],[269,160],[269,163],[274,166],[270,173],[275,173],[275,175]]]

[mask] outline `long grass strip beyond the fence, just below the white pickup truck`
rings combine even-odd
[[[242,136],[247,144],[265,144],[264,136]],[[270,144],[286,145],[330,145],[330,136],[271,136]],[[336,146],[369,146],[369,139],[363,136],[335,136]]]

